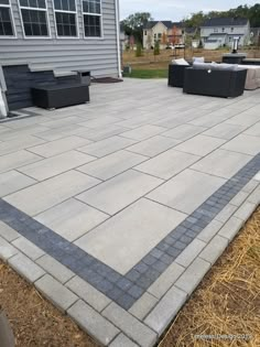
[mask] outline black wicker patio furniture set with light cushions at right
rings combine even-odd
[[[242,59],[239,65],[175,59],[169,66],[169,86],[183,88],[186,94],[238,97],[245,89],[260,88],[260,59]]]

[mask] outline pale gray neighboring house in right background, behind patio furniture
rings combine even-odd
[[[232,46],[234,37],[239,36],[239,45],[249,43],[250,24],[245,18],[212,18],[201,26],[204,48],[216,50]]]

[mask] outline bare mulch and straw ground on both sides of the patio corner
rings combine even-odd
[[[10,319],[17,347],[97,347],[2,262],[0,305]],[[203,340],[195,336],[217,334],[236,335],[237,339]],[[206,275],[159,346],[260,346],[260,208]]]

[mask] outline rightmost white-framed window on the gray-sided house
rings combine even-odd
[[[100,0],[83,0],[85,37],[101,37]]]

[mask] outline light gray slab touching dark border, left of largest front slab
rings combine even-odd
[[[108,217],[91,206],[69,198],[35,216],[35,219],[66,240],[74,241]]]

